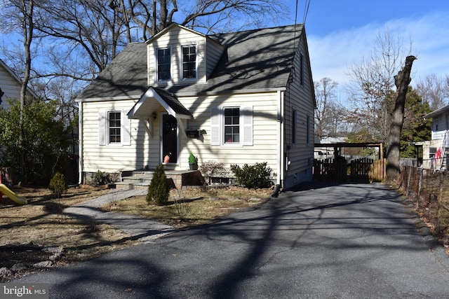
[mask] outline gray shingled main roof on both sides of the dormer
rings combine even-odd
[[[302,25],[291,25],[209,35],[226,50],[208,82],[173,85],[167,90],[180,96],[283,88],[295,55],[293,39],[300,37],[302,29]],[[79,98],[138,96],[147,88],[147,45],[130,43]]]

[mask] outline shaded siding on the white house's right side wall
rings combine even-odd
[[[303,72],[300,67],[300,55],[303,56]],[[295,75],[293,82],[287,86],[284,105],[285,153],[290,161],[290,165],[286,165],[288,170],[284,179],[285,186],[294,186],[301,181],[311,180],[311,169],[314,162],[314,91],[304,34],[300,38],[299,50],[293,63]],[[302,75],[304,78],[301,85]],[[293,110],[296,111],[295,143],[293,143],[292,136]],[[309,121],[309,125],[307,125],[307,121]]]

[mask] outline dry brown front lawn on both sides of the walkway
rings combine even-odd
[[[26,197],[28,204],[16,204],[7,197],[0,204],[0,282],[140,243],[110,225],[62,214],[66,207],[109,193],[105,188],[69,188],[61,198],[53,197],[46,188],[11,189]],[[270,193],[268,189],[246,188],[173,190],[170,202],[163,207],[149,205],[145,196],[140,196],[113,202],[103,209],[185,228],[260,204]]]

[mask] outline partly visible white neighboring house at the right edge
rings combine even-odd
[[[423,167],[448,169],[449,157],[449,105],[424,116],[432,121],[431,140],[417,142],[422,146]]]

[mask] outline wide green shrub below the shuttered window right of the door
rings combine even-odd
[[[267,162],[245,164],[243,167],[233,164],[231,170],[236,176],[236,181],[246,188],[269,188],[272,185],[270,176],[272,169],[267,167]]]

